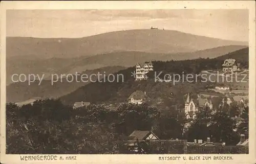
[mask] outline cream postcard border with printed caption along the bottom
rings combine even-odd
[[[76,155],[77,160],[51,161],[51,163],[256,163],[255,160],[255,2],[254,1],[23,1],[1,2],[1,163],[22,163],[20,155],[5,154],[5,102],[6,102],[6,10],[7,9],[248,9],[249,10],[249,154],[222,154],[233,160],[202,160],[202,156],[215,154],[172,155]],[[69,156],[69,155],[58,155]],[[159,156],[201,156],[201,160],[158,160]],[[31,161],[31,163],[47,161]],[[26,162],[28,163],[28,161]]]

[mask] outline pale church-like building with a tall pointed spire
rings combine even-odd
[[[198,106],[194,102],[193,98],[189,97],[187,94],[187,99],[185,102],[185,118],[186,119],[196,119],[196,114],[198,113]]]

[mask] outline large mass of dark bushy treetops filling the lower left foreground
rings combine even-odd
[[[109,110],[93,104],[73,109],[51,99],[22,107],[9,103],[7,153],[115,154],[134,130],[152,130],[159,125],[160,115],[157,108],[147,104],[124,103],[117,110]],[[172,131],[176,127],[167,128]]]

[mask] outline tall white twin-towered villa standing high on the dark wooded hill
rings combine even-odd
[[[145,62],[142,64],[137,63],[136,71],[135,71],[135,80],[146,80],[146,74],[150,71],[153,71],[153,64],[152,62]]]

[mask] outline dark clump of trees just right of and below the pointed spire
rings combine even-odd
[[[226,145],[236,145],[239,142],[239,133],[234,131],[237,128],[234,119],[234,111],[238,111],[237,106],[231,106],[229,109],[212,112],[209,108],[201,108],[197,119],[191,123],[188,131],[185,133],[189,142],[194,139],[207,140],[210,137],[211,142],[226,143]]]

